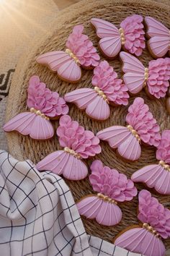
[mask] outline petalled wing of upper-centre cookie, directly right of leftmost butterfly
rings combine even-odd
[[[92,85],[100,88],[107,99],[117,105],[128,105],[128,88],[121,79],[117,78],[117,73],[107,61],[100,61],[94,69]]]

